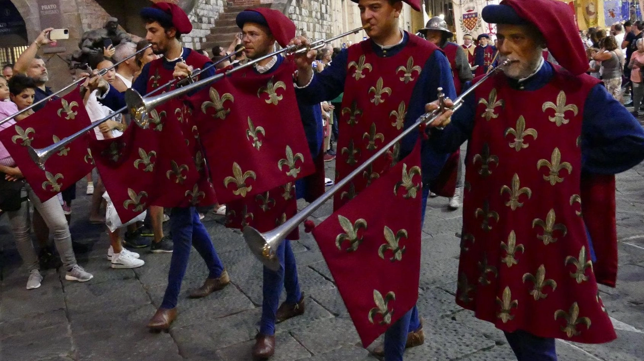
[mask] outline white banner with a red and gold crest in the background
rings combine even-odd
[[[480,34],[496,35],[497,28],[483,21],[481,12],[490,4],[498,4],[498,0],[453,0],[454,25],[456,27],[455,42],[462,44],[463,35],[469,34],[477,39]]]

